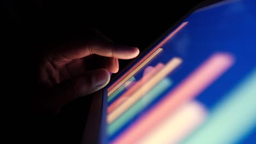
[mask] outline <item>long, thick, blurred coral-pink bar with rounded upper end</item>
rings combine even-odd
[[[113,143],[135,143],[152,130],[155,125],[170,115],[179,105],[199,95],[234,62],[228,53],[216,53],[181,82],[173,91],[142,118],[121,134]]]

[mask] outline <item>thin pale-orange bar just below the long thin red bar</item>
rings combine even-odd
[[[123,80],[121,80],[115,87],[113,87],[108,95],[112,94],[115,90],[117,90],[120,86],[122,86],[127,80],[129,80],[133,75],[135,75],[139,70],[141,70],[144,65],[148,64],[155,56],[157,56],[162,51],[161,48],[156,50],[151,56],[149,56],[143,63],[141,63],[136,69],[131,71],[129,75],[127,75]]]

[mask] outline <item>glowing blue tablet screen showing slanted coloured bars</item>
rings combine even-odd
[[[109,143],[253,143],[256,1],[194,11],[107,95]]]

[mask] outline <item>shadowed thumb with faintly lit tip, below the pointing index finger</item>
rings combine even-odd
[[[91,70],[75,79],[60,83],[50,89],[40,105],[42,112],[57,113],[63,105],[74,99],[94,93],[108,84],[110,74],[106,69]],[[45,99],[46,98],[46,99]]]

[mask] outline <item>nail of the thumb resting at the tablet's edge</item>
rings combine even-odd
[[[110,74],[106,69],[97,69],[92,73],[92,85],[94,87],[102,87],[107,85]]]

